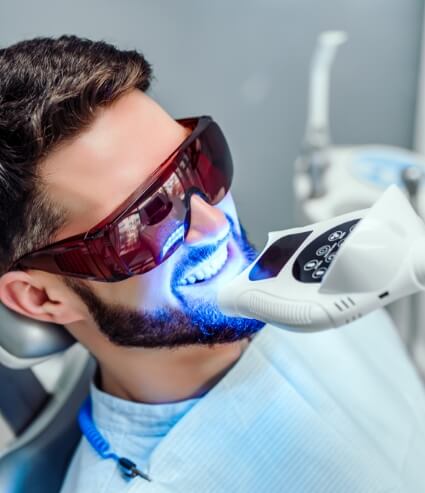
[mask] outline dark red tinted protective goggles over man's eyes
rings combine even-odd
[[[125,203],[88,232],[24,255],[9,270],[115,282],[144,274],[170,257],[189,230],[191,195],[216,205],[233,177],[229,147],[212,118],[177,121],[192,133]]]

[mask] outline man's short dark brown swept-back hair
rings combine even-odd
[[[77,36],[0,49],[0,276],[67,222],[40,178],[43,158],[86,129],[99,107],[146,91],[151,76],[137,51]]]

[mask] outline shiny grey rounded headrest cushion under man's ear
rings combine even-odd
[[[10,310],[0,302],[0,363],[28,368],[74,344],[62,325],[39,322]]]

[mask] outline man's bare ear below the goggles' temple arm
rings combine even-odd
[[[10,271],[0,277],[0,301],[25,317],[60,325],[84,319],[84,313],[67,300],[59,283],[33,271]],[[69,302],[68,302],[69,301]]]

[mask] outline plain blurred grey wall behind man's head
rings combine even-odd
[[[292,163],[318,33],[344,29],[332,78],[337,143],[411,147],[423,0],[0,0],[0,46],[73,33],[136,48],[176,117],[211,114],[230,141],[251,238],[293,224]],[[1,83],[1,81],[0,81]]]

